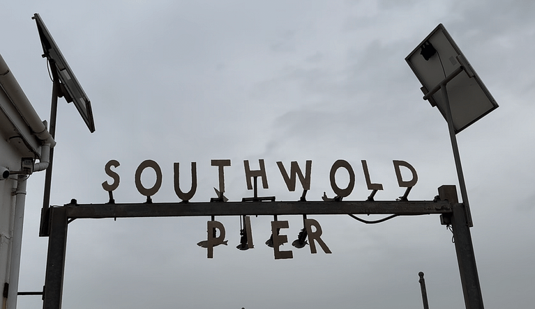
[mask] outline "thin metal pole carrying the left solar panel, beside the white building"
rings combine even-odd
[[[59,97],[59,77],[56,71],[56,65],[50,62],[50,71],[52,71],[52,104],[50,106],[50,127],[48,132],[52,138],[56,138],[56,116],[58,111]],[[48,236],[48,216],[50,209],[50,187],[52,186],[52,163],[54,162],[54,148],[50,148],[50,163],[45,174],[45,191],[43,193],[43,208],[41,209],[41,222],[39,227],[39,236]]]

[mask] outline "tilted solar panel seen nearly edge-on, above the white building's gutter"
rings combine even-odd
[[[61,54],[58,45],[56,45],[54,38],[52,38],[47,26],[45,26],[43,19],[41,19],[38,13],[35,13],[32,19],[36,20],[39,38],[41,45],[43,45],[43,58],[46,57],[50,62],[52,73],[54,74],[54,71],[58,73],[57,77],[60,81],[59,97],[65,97],[69,103],[73,102],[89,131],[91,133],[95,132],[93,111],[91,110],[89,97],[87,97],[84,89],[76,79],[73,70],[70,70],[65,57]]]

